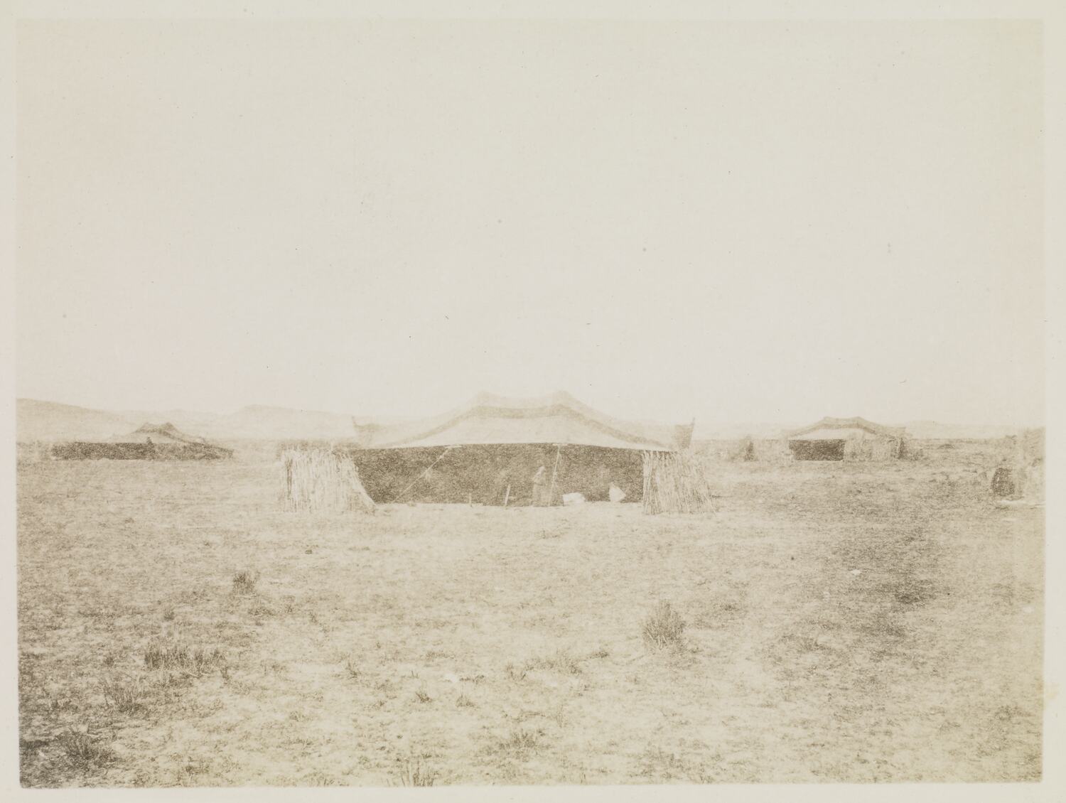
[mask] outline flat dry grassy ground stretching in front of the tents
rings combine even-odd
[[[717,513],[657,517],[23,465],[22,782],[1038,780],[1043,510],[987,465],[722,463]]]

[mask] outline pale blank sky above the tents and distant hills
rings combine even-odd
[[[1044,420],[1024,22],[32,22],[17,392]]]

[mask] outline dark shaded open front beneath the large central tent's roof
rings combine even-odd
[[[349,453],[367,493],[379,503],[503,504],[506,497],[508,505],[528,505],[534,503],[534,475],[542,466],[545,497],[555,472],[552,504],[570,493],[583,494],[588,501],[604,501],[612,483],[626,493],[626,501],[640,501],[644,483],[642,453],[632,449],[500,444],[353,449]]]

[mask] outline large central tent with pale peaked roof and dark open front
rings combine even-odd
[[[687,449],[692,430],[613,418],[566,392],[481,394],[434,418],[356,425],[353,456],[374,501],[558,504],[564,493],[605,501],[612,483],[637,501],[643,452]]]

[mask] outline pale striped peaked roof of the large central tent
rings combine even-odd
[[[479,394],[462,407],[434,418],[356,429],[364,449],[569,444],[674,451],[687,448],[692,439],[691,425],[611,418],[563,391],[533,399]]]

